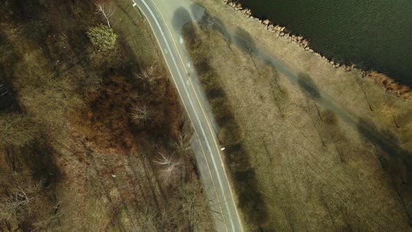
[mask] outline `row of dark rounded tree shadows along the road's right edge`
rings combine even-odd
[[[197,57],[195,54],[198,49],[202,48],[199,43],[196,43],[196,40],[200,40],[198,34],[196,34],[196,29],[189,24],[184,29],[184,35],[187,36],[186,46],[191,52],[192,58],[195,59],[195,67],[200,74],[200,82],[202,82],[203,88],[207,92],[216,122],[221,127],[218,138],[226,147],[224,158],[230,175],[236,180],[234,187],[239,197],[239,207],[242,208],[249,223],[263,226],[267,223],[267,205],[260,194],[258,180],[251,166],[248,151],[243,147],[242,133],[239,124],[233,117],[232,106],[230,106],[230,102],[221,88],[219,78],[217,78],[218,73],[209,64],[209,59],[203,56]],[[246,45],[246,47],[249,47],[249,45]],[[196,57],[193,57],[193,54]]]

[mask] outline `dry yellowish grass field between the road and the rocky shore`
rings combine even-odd
[[[239,29],[242,20],[229,12],[188,24],[184,33],[228,147],[225,161],[246,230],[410,229],[411,104],[285,43],[281,58],[296,59],[291,66],[300,73],[290,82],[209,28],[224,23],[242,31],[236,36],[243,41],[269,40],[263,32],[248,34],[246,22]],[[301,69],[307,66],[316,68]]]

